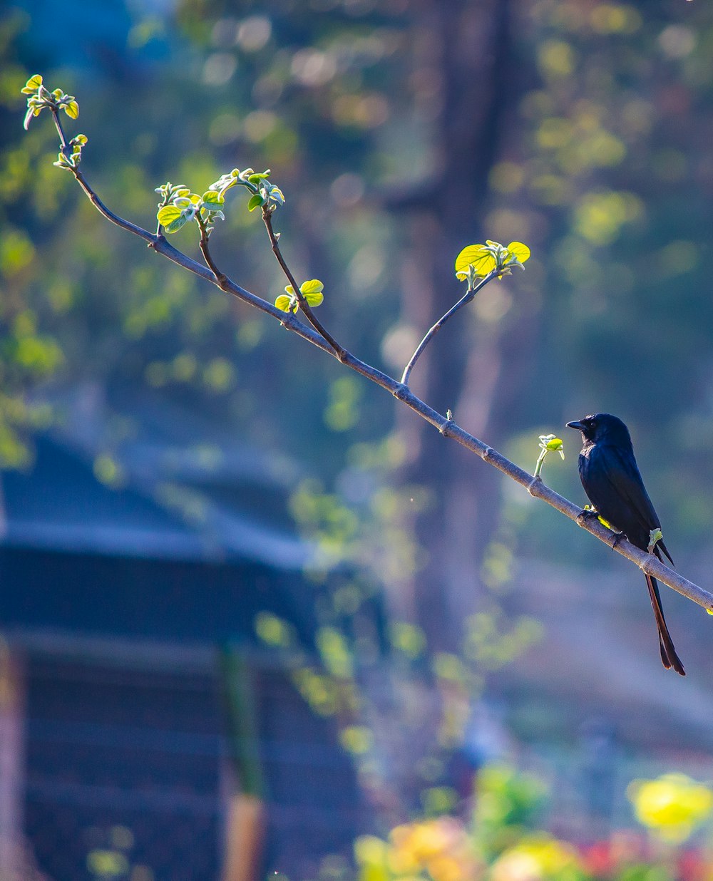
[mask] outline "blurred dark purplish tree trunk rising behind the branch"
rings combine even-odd
[[[513,59],[510,0],[421,0],[418,9],[415,64],[420,78],[439,86],[430,107],[437,177],[422,204],[408,206],[412,246],[402,315],[425,331],[464,292],[453,275],[455,255],[487,234],[487,179],[498,155]],[[417,394],[441,412],[450,408],[461,425],[492,442],[512,401],[504,359],[512,329],[506,334],[502,324],[478,326],[470,310],[461,313],[412,376]],[[500,480],[403,410],[397,408],[398,427],[411,453],[405,478],[434,492],[417,521],[429,557],[414,578],[413,603],[433,648],[452,649],[478,602],[479,564],[498,521]]]

